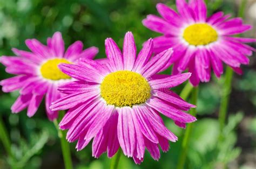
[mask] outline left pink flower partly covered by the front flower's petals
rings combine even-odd
[[[46,114],[50,120],[57,118],[58,112],[49,109],[51,103],[60,98],[58,85],[71,81],[71,77],[58,68],[60,63],[75,64],[78,58],[93,59],[98,48],[90,47],[83,51],[83,43],[76,41],[64,53],[62,34],[56,32],[47,39],[47,46],[36,39],[27,39],[26,46],[32,52],[13,48],[16,57],[2,56],[0,62],[6,66],[5,71],[15,74],[13,78],[1,81],[2,90],[11,92],[19,90],[19,97],[11,107],[13,113],[28,107],[28,116],[33,116],[45,95]]]

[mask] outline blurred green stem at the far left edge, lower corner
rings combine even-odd
[[[0,117],[0,138],[2,140],[2,143],[4,145],[5,151],[8,153],[8,156],[13,158],[13,154],[11,152],[11,142],[8,136],[8,132],[5,129],[4,122],[2,120],[2,117]]]

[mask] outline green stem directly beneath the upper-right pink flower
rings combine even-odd
[[[194,87],[192,90],[192,95],[191,95],[191,104],[197,105],[197,98],[198,98],[198,87]],[[196,108],[192,108],[190,110],[190,114],[192,116],[196,116],[197,114],[197,110]],[[186,162],[186,157],[187,157],[187,150],[188,150],[188,146],[189,146],[189,142],[190,142],[190,136],[192,133],[192,127],[193,127],[193,123],[187,124],[187,128],[183,137],[183,142],[181,144],[181,153],[179,156],[179,160],[178,160],[178,165],[177,165],[177,169],[183,169],[185,162]]]

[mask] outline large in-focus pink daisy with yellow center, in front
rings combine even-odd
[[[59,126],[69,129],[69,142],[78,140],[77,150],[94,138],[92,154],[96,158],[106,151],[111,158],[120,146],[137,164],[143,161],[145,147],[158,160],[158,145],[168,151],[169,140],[177,140],[159,112],[181,128],[196,121],[184,112],[195,106],[169,90],[190,78],[191,73],[158,75],[170,66],[172,48],[151,58],[153,40],[149,39],[136,57],[131,32],[125,35],[123,54],[111,38],[105,40],[105,48],[109,60],[105,65],[87,59],[81,59],[78,65],[59,65],[77,81],[60,86],[58,89],[67,95],[50,108],[69,109]]]

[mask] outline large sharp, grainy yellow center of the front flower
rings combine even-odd
[[[100,85],[100,94],[107,104],[116,107],[145,103],[151,96],[151,87],[140,74],[117,71],[105,76]]]

